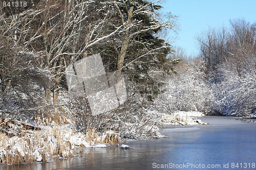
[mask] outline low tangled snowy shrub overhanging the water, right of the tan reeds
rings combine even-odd
[[[131,82],[130,82],[131,83]],[[71,112],[76,129],[87,133],[88,129],[95,128],[97,132],[116,130],[121,138],[140,139],[157,138],[160,133],[157,129],[159,122],[158,112],[152,109],[152,102],[147,101],[146,96],[133,90],[135,86],[129,85],[128,100],[119,108],[109,112],[92,115],[86,98],[70,96],[66,102],[67,111]]]

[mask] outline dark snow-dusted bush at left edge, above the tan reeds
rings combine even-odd
[[[20,119],[31,117],[44,110],[44,88],[49,86],[50,76],[40,68],[41,53],[24,51],[0,41],[0,117]],[[48,109],[48,108],[47,108]]]

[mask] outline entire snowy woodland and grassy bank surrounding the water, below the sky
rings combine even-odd
[[[159,13],[160,3],[45,0],[1,7],[1,163],[161,137],[163,122],[188,124],[184,112],[256,117],[256,24],[236,19],[230,28],[209,28],[197,37],[200,55],[189,58],[164,38],[178,24],[177,16]],[[78,62],[97,54],[97,78],[75,83],[69,71],[76,77],[88,69]],[[121,75],[112,84],[110,72]],[[82,88],[79,95],[71,85]],[[116,91],[96,95],[105,89]],[[95,102],[100,109],[93,110]]]

